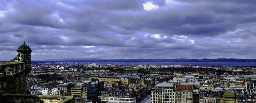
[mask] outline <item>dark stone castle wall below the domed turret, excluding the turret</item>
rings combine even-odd
[[[21,61],[0,62],[0,94],[27,94],[26,69]]]

